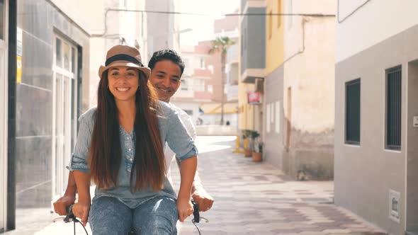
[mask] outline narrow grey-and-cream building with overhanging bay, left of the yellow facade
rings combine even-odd
[[[261,133],[262,101],[249,103],[248,96],[249,92],[263,92],[261,84],[266,69],[266,1],[242,0],[240,12],[254,15],[239,18],[239,130],[256,130]]]

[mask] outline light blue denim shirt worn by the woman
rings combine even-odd
[[[181,122],[179,113],[167,103],[159,101],[159,104],[161,106],[158,117],[159,132],[164,149],[164,143],[166,142],[180,161],[197,156],[198,150],[190,134],[185,129],[183,122]],[[91,108],[79,117],[79,134],[69,163],[70,171],[89,173],[87,161],[95,114],[96,108]],[[154,192],[152,188],[137,190],[134,193],[130,191],[130,171],[132,171],[132,163],[135,156],[135,131],[132,130],[131,133],[128,133],[122,125],[119,125],[119,133],[122,159],[119,168],[118,187],[107,190],[96,187],[93,201],[102,196],[116,197],[121,202],[124,202],[125,205],[128,205],[128,207],[135,208],[146,200],[158,195],[166,195],[176,199],[176,193],[166,175],[163,189],[158,192]]]

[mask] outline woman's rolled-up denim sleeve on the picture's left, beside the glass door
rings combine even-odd
[[[70,171],[82,171],[89,173],[89,164],[87,163],[87,159],[89,157],[92,126],[91,122],[87,119],[86,115],[81,115],[79,118],[79,133],[77,134],[77,142],[69,161]]]

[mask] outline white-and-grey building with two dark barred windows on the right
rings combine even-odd
[[[418,232],[417,7],[338,8],[335,203],[389,234]]]

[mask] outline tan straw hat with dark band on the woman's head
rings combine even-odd
[[[126,66],[140,69],[144,72],[147,79],[151,73],[151,69],[142,64],[140,52],[135,47],[127,45],[115,45],[108,50],[108,54],[106,54],[105,66],[101,66],[98,69],[98,76],[101,78],[104,71],[116,66]]]

